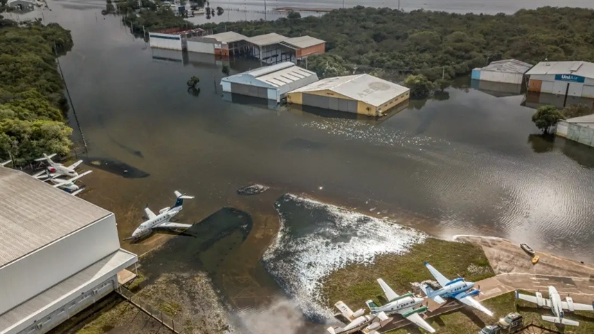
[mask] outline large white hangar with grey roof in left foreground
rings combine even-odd
[[[0,333],[46,333],[118,287],[114,214],[0,167]]]

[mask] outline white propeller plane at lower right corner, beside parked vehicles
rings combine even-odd
[[[592,302],[592,305],[579,304],[574,303],[573,299],[569,296],[565,297],[565,301],[561,301],[561,296],[559,296],[559,293],[557,293],[557,289],[555,289],[554,286],[548,287],[548,299],[543,298],[543,294],[540,292],[537,292],[536,296],[530,296],[518,293],[518,290],[516,290],[516,299],[530,301],[531,303],[537,304],[539,307],[546,306],[550,308],[555,317],[550,317],[548,315],[543,315],[542,317],[544,321],[554,322],[555,324],[579,326],[579,322],[565,319],[563,310],[569,310],[571,312],[575,310],[594,310],[594,301]]]

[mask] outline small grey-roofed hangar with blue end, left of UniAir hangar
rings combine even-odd
[[[474,68],[471,78],[480,81],[521,84],[524,73],[531,67],[532,64],[520,62],[516,59],[498,60],[485,67]]]

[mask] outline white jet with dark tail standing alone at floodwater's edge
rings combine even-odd
[[[178,229],[178,228],[190,228],[192,225],[190,224],[179,224],[179,223],[171,223],[170,220],[176,215],[179,214],[181,209],[183,208],[183,200],[184,199],[191,199],[194,196],[186,196],[185,194],[181,194],[177,190],[174,192],[176,196],[175,204],[172,207],[163,207],[163,209],[159,210],[159,214],[154,214],[149,208],[148,205],[145,207],[145,213],[148,217],[148,220],[142,223],[134,232],[132,236],[124,240],[138,240],[142,239],[145,236],[151,234],[154,228],[165,228],[165,229]]]

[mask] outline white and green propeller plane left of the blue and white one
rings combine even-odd
[[[367,306],[371,310],[371,313],[376,314],[379,312],[384,312],[386,315],[398,313],[402,315],[405,319],[413,322],[417,326],[423,328],[425,331],[429,333],[435,333],[435,329],[431,327],[431,325],[427,324],[425,320],[421,317],[422,313],[425,313],[429,308],[426,306],[421,306],[419,308],[414,308],[415,306],[421,304],[424,299],[415,297],[412,293],[407,293],[406,295],[399,296],[397,293],[384,282],[383,279],[377,279],[377,283],[381,286],[381,290],[384,290],[384,295],[386,295],[386,299],[388,299],[388,303],[382,306],[378,306],[373,301],[368,300],[366,301]]]

